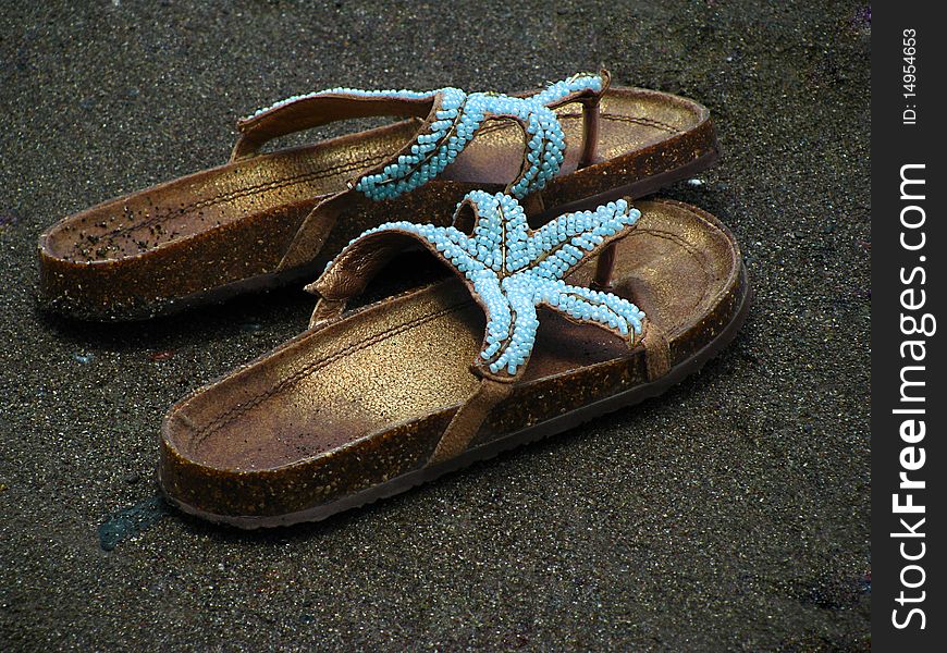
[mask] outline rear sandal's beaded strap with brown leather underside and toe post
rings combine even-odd
[[[564,160],[565,134],[554,108],[583,104],[583,143],[579,165],[595,158],[599,100],[611,77],[577,74],[522,97],[466,94],[445,87],[429,93],[333,88],[287,98],[241,120],[241,137],[231,160],[251,157],[269,139],[348,118],[398,115],[425,118],[414,138],[386,162],[350,183],[372,200],[398,197],[439,176],[489,121],[514,121],[522,128],[524,162],[506,193],[525,197],[545,186]]]

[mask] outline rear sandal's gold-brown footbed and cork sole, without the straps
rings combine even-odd
[[[601,104],[602,160],[577,171],[581,110],[571,103],[557,111],[573,147],[559,176],[542,190],[545,212],[602,201],[610,192],[640,196],[716,159],[705,108],[669,94],[613,87]],[[446,223],[464,194],[500,190],[516,176],[519,127],[487,126],[442,177],[405,196],[376,202],[349,193],[320,207],[332,215],[320,225],[319,255],[281,269],[310,211],[399,149],[418,124],[403,121],[260,155],[65,218],[40,236],[40,303],[81,319],[146,319],[287,283],[321,270],[367,229],[405,215]],[[648,180],[654,183],[642,185]]]

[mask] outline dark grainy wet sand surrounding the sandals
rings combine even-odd
[[[863,5],[12,4],[0,649],[868,648]],[[153,513],[171,403],[300,331],[311,303],[294,288],[150,324],[50,319],[34,304],[46,225],[223,161],[233,119],[313,87],[516,90],[602,64],[713,111],[723,163],[666,195],[747,254],[757,303],[725,355],[657,401],[323,525],[247,534],[170,514],[125,539],[113,521],[100,546],[110,515]]]

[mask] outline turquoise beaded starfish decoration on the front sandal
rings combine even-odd
[[[371,234],[396,232],[421,241],[450,262],[474,286],[487,312],[478,364],[494,374],[512,377],[525,366],[539,326],[538,306],[626,340],[641,334],[644,313],[634,304],[563,281],[589,252],[626,235],[641,215],[638,209],[622,199],[594,211],[566,213],[536,231],[519,202],[503,193],[468,193],[457,205],[455,224],[468,209],[475,215],[470,234],[456,226],[389,222],[368,230],[345,250]]]

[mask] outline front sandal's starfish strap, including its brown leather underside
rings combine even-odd
[[[536,231],[515,198],[482,190],[458,205],[453,226],[391,222],[349,243],[307,289],[320,300],[313,325],[340,315],[396,254],[420,244],[460,276],[487,313],[487,333],[472,370],[509,383],[526,369],[539,325],[537,307],[611,331],[629,345],[643,330],[634,304],[564,279],[582,261],[627,235],[640,211],[624,199],[595,211],[567,213]]]

